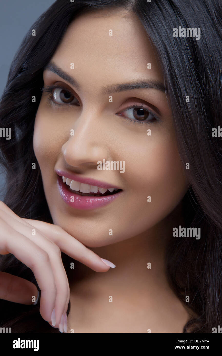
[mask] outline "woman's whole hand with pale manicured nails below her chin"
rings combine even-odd
[[[51,326],[60,329],[70,295],[61,251],[96,272],[107,272],[110,268],[60,226],[20,218],[0,201],[0,254],[12,253],[32,270],[41,290],[40,314]],[[0,299],[33,304],[33,296],[37,298],[35,284],[9,273],[0,272],[0,286]],[[65,329],[64,326],[66,332]]]

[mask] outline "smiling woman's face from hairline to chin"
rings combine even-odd
[[[44,86],[61,88],[51,101],[42,95],[33,146],[54,224],[88,247],[146,233],[174,210],[187,183],[143,26],[124,10],[81,15],[50,62]],[[99,161],[106,162],[102,170]],[[73,178],[71,187],[61,176]],[[110,185],[120,193],[103,193]],[[89,186],[104,190],[94,188],[90,197]]]

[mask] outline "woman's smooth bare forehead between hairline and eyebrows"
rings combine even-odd
[[[87,85],[141,77],[163,80],[157,54],[140,20],[122,9],[78,16],[68,26],[52,61],[79,82],[87,78]]]

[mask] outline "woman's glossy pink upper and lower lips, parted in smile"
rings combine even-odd
[[[114,185],[100,182],[99,180],[92,178],[84,178],[59,170],[56,170],[56,173],[58,175],[58,189],[62,199],[66,202],[66,204],[75,209],[90,210],[101,208],[102,206],[105,206],[111,203],[114,199],[118,198],[123,192],[123,190],[119,190],[120,188],[114,187]],[[99,188],[115,188],[118,190],[116,193],[115,190],[113,190],[113,192],[108,191],[105,193],[106,195],[100,193],[99,191],[97,193],[89,192],[89,194],[92,194],[91,196],[81,195],[80,192],[77,193],[75,190],[71,190],[70,186],[67,185],[66,182],[63,182],[62,177],[74,180],[79,183],[97,186]]]

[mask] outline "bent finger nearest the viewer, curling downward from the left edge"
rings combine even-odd
[[[56,283],[48,253],[26,236],[12,229],[0,218],[0,246],[12,253],[19,261],[29,267],[41,289],[40,313],[46,321],[51,320],[56,301]],[[2,236],[5,233],[6,236]]]

